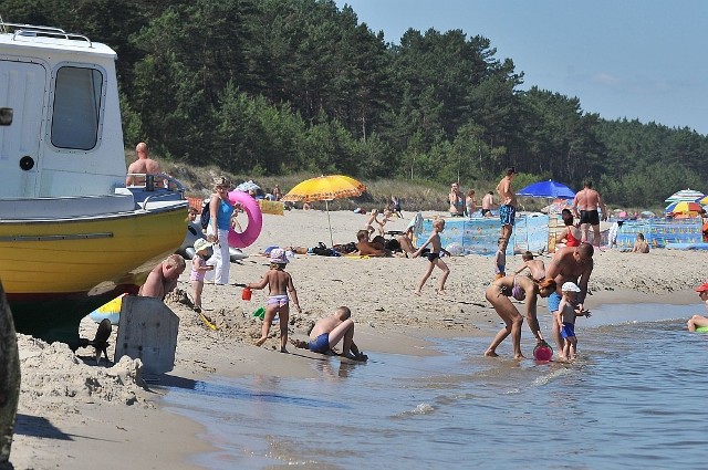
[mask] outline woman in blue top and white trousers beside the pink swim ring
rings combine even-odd
[[[231,216],[233,205],[229,200],[229,188],[231,181],[220,176],[214,178],[214,196],[209,201],[209,226],[207,227],[207,240],[214,243],[214,283],[228,284],[231,259],[229,257],[229,229],[231,228]],[[209,263],[211,264],[211,263]]]

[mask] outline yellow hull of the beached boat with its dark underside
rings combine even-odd
[[[0,279],[19,332],[70,345],[79,322],[183,242],[187,202],[102,217],[0,221]]]

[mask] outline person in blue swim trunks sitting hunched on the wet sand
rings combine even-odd
[[[332,315],[317,320],[310,332],[310,343],[306,346],[300,343],[295,345],[308,347],[314,353],[326,353],[344,340],[342,356],[354,361],[366,361],[368,358],[366,354],[358,351],[354,343],[354,321],[351,316],[352,312],[348,307],[339,307]]]

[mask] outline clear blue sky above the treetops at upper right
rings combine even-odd
[[[335,0],[400,43],[409,29],[482,35],[499,61],[584,113],[708,135],[706,0]]]

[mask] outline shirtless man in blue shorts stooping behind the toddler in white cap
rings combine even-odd
[[[549,311],[553,315],[553,340],[555,341],[555,351],[563,351],[563,338],[561,337],[561,328],[556,315],[559,314],[559,304],[563,297],[561,286],[566,282],[574,282],[580,288],[577,293],[576,307],[581,311],[585,295],[587,295],[587,281],[593,272],[593,254],[595,250],[590,243],[581,243],[580,247],[564,247],[558,249],[551,263],[545,269],[545,279],[555,280],[558,291],[549,296]]]

